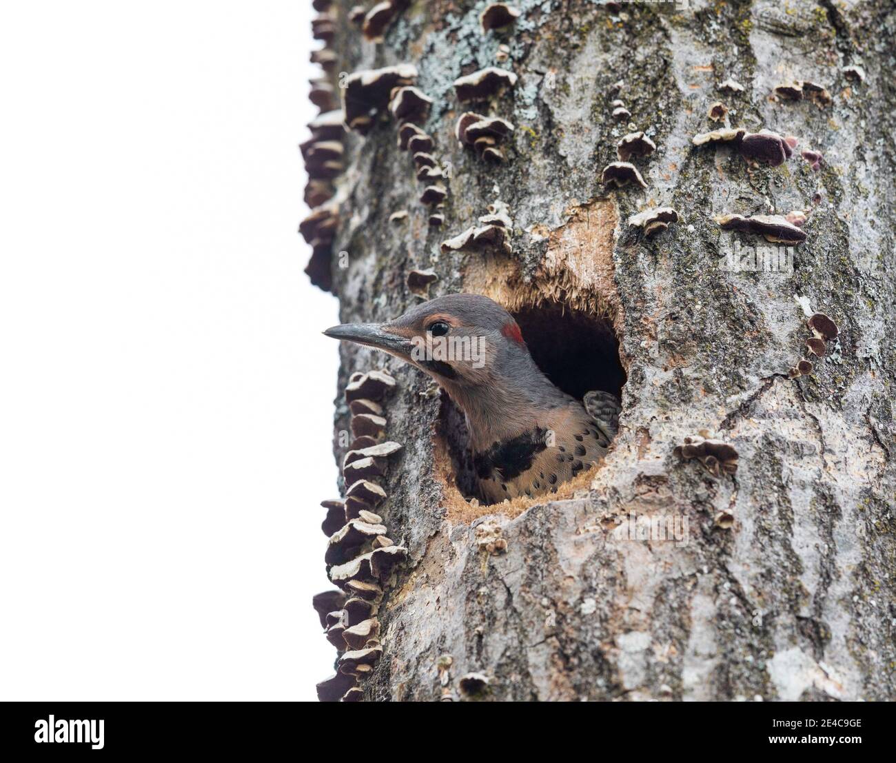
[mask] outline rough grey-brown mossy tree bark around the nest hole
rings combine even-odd
[[[486,2],[433,0],[411,4],[376,44],[347,20],[353,4],[330,11],[339,70],[416,64],[435,101],[421,126],[452,176],[444,228],[431,228],[397,124],[383,118],[346,139],[332,262],[342,320],[404,312],[418,301],[409,271],[432,268],[431,296],[476,291],[512,310],[607,315],[627,373],[621,431],[599,470],[562,500],[478,507],[454,486],[433,383],[342,347],[340,390],[369,368],[398,381],[387,432],[404,445],[378,512],[409,556],[380,605],[383,657],[365,699],[896,699],[890,0],[617,13],[517,0],[521,18],[504,37],[479,29]],[[502,42],[509,58],[496,64]],[[850,64],[864,81],[846,76]],[[452,81],[491,65],[516,73],[515,87],[459,104]],[[729,77],[745,90],[719,91]],[[822,84],[832,104],[772,99],[789,80]],[[632,115],[624,123],[610,116],[616,98]],[[707,119],[716,100],[732,126],[797,136],[794,156],[751,166],[724,147],[695,149],[692,137],[717,126]],[[516,125],[503,164],[455,140],[470,108]],[[633,159],[647,190],[600,183],[628,122],[657,145]],[[823,153],[819,170],[804,148]],[[511,255],[440,252],[495,200],[513,219]],[[649,206],[681,219],[636,235],[626,221]],[[772,209],[808,213],[792,274],[720,269],[725,246],[764,242],[715,218]],[[396,210],[409,212],[398,225]],[[814,312],[838,323],[839,339],[812,358],[813,373],[790,379]],[[336,428],[349,429],[341,394]],[[673,453],[701,432],[737,448],[736,475]],[[614,530],[631,515],[686,518],[686,542],[622,539]],[[505,553],[479,542],[497,536]],[[485,689],[462,691],[467,673],[483,673]]]

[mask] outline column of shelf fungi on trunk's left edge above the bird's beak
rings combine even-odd
[[[339,209],[332,201],[336,193],[333,180],[345,169],[345,130],[333,80],[338,61],[330,47],[336,30],[336,21],[329,13],[331,5],[314,3],[320,13],[311,22],[312,32],[315,39],[323,40],[323,47],[311,53],[311,62],[321,67],[321,74],[311,79],[308,98],[320,113],[308,124],[311,137],[299,145],[308,173],[305,203],[311,207],[298,228],[311,245],[305,272],[314,286],[324,291],[332,291],[332,240],[339,222]]]

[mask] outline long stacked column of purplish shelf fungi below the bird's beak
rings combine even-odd
[[[374,370],[353,373],[345,389],[354,436],[342,460],[345,498],[322,503],[327,510],[322,528],[329,536],[324,562],[338,588],[312,600],[326,639],[339,652],[336,674],[317,684],[317,697],[323,702],[364,699],[359,682],[383,655],[376,616],[383,585],[407,556],[407,549],[392,541],[377,513],[388,496],[373,481],[401,450],[398,442],[383,442],[383,401],[394,388],[389,373]]]

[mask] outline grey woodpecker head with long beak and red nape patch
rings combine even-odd
[[[530,360],[513,316],[476,294],[440,296],[394,321],[343,323],[323,333],[384,350],[450,391],[495,383],[514,358]]]

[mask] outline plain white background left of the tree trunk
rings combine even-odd
[[[314,699],[306,0],[6,3],[0,699]]]

